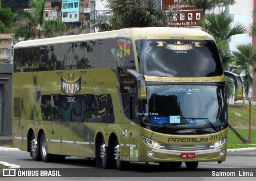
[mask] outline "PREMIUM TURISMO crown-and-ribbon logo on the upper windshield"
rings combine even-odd
[[[192,50],[196,47],[201,47],[200,42],[192,42],[191,44],[184,44],[184,42],[174,42],[174,44],[167,44],[166,42],[156,42],[157,46],[163,46],[168,50],[173,50],[174,53],[188,53],[188,50]]]

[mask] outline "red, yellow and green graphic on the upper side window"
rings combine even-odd
[[[118,65],[124,65],[124,57],[128,54],[130,55],[131,42],[125,39],[117,40],[119,48],[112,48],[111,52],[117,61]]]

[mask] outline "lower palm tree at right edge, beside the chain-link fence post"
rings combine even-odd
[[[250,88],[254,88],[254,78],[253,74],[256,73],[255,60],[256,60],[256,50],[254,50],[252,44],[242,44],[236,46],[238,51],[234,51],[234,60],[236,66],[232,72],[240,75],[243,84],[243,91],[248,95]]]

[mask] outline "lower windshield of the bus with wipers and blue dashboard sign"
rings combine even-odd
[[[222,85],[147,86],[147,91],[147,102],[139,115],[152,130],[204,128],[216,132],[226,126],[226,98]]]

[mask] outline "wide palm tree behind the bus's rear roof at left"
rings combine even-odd
[[[12,29],[13,40],[30,40],[35,38],[50,38],[58,36],[60,32],[67,30],[61,20],[44,19],[44,7],[47,0],[30,0],[29,6],[34,12],[19,9],[16,15],[18,20],[15,28]]]

